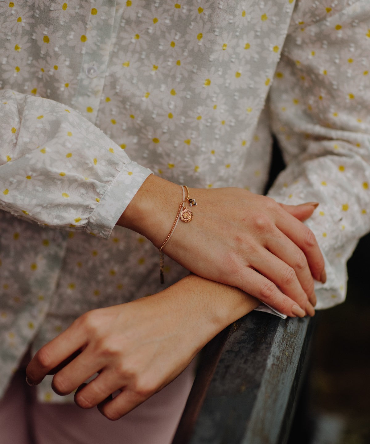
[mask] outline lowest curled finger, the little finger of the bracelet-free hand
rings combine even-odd
[[[152,393],[153,394],[153,393]],[[115,421],[121,418],[126,413],[130,412],[132,409],[142,404],[147,400],[151,394],[143,394],[134,392],[128,388],[122,389],[111,401],[104,401],[98,404],[98,410],[106,418]]]

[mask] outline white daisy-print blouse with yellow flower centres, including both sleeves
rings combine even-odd
[[[157,249],[115,226],[150,171],[262,193],[271,131],[268,194],[320,202],[317,308],[345,298],[370,230],[370,2],[178,1],[0,1],[1,391],[31,343],[163,288]]]

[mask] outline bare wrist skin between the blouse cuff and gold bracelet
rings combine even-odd
[[[136,231],[159,248],[182,200],[181,187],[151,174],[143,182],[117,225]]]

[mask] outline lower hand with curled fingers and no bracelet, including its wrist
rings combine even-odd
[[[239,289],[185,277],[154,296],[79,317],[35,354],[28,382],[55,373],[56,393],[80,387],[76,404],[98,405],[104,416],[118,419],[173,381],[213,336],[258,304]]]

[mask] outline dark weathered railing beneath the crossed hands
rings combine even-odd
[[[173,444],[285,442],[311,327],[253,312],[214,338]]]

